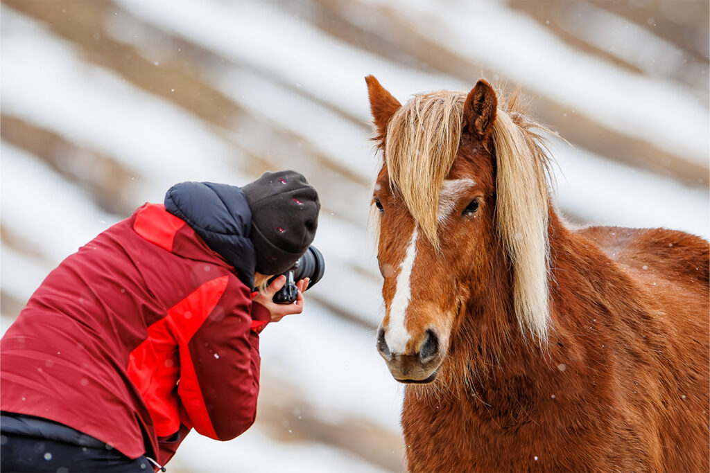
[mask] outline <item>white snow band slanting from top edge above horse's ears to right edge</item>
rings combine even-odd
[[[424,0],[367,1],[388,4],[422,34],[512,82],[609,128],[707,164],[710,113],[683,87],[574,50],[501,2],[459,0],[457,9],[441,9]]]

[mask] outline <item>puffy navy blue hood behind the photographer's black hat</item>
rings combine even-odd
[[[239,187],[181,182],[165,194],[165,210],[184,220],[207,246],[234,266],[241,282],[253,287],[256,252],[249,239],[251,210]]]

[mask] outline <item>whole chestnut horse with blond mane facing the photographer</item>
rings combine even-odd
[[[367,84],[408,469],[707,472],[708,243],[571,228],[541,127],[485,81],[405,105]]]

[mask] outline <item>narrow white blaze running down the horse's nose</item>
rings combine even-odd
[[[412,239],[407,247],[407,253],[400,266],[400,274],[397,277],[397,289],[395,296],[392,298],[392,304],[390,305],[390,323],[387,328],[387,334],[385,335],[385,341],[393,355],[403,353],[410,339],[409,332],[404,325],[404,316],[407,312],[407,306],[409,306],[411,296],[410,278],[412,277],[414,260],[417,256],[418,237],[419,232],[415,225]]]

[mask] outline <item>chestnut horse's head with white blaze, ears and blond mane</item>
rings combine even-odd
[[[466,313],[491,291],[513,294],[523,333],[545,338],[544,153],[483,80],[405,105],[366,81],[383,151],[372,201],[385,301],[377,348],[393,377],[434,381]]]

